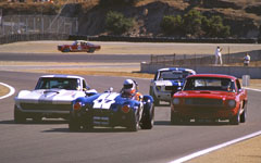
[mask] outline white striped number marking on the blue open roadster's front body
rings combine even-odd
[[[94,109],[110,109],[111,104],[115,102],[117,93],[103,93],[94,101]]]

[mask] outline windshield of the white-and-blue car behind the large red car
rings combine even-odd
[[[171,80],[171,79],[183,79],[190,75],[188,72],[181,72],[181,71],[167,71],[161,72],[159,79],[160,80]]]

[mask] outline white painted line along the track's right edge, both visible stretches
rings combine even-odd
[[[247,88],[247,87],[246,87],[246,89],[253,90],[253,91],[261,91],[260,89],[252,89],[252,88]],[[211,147],[211,148],[208,148],[208,149],[204,149],[204,150],[201,150],[201,151],[198,151],[198,152],[195,152],[195,153],[191,153],[189,155],[179,158],[179,159],[171,161],[169,163],[183,163],[185,161],[189,161],[191,159],[195,159],[195,158],[201,156],[203,154],[213,152],[215,150],[219,150],[221,148],[231,146],[233,143],[236,143],[236,142],[239,142],[239,141],[243,141],[243,140],[246,140],[246,139],[250,139],[250,138],[257,137],[259,135],[261,135],[261,130],[252,133],[252,134],[244,136],[244,137],[240,137],[240,138],[237,138],[237,139],[234,139],[234,140],[231,140],[231,141],[227,141],[227,142],[224,142],[224,143],[221,143],[221,145],[217,145],[217,146],[214,146],[214,147]]]

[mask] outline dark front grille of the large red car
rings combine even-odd
[[[194,98],[194,99],[185,99],[185,104],[188,104],[188,105],[215,105],[215,106],[221,106],[223,104],[223,101],[221,99]]]

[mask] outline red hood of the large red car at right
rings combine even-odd
[[[209,91],[209,90],[188,90],[188,91],[176,92],[174,95],[174,97],[226,99],[226,98],[235,97],[235,92]]]

